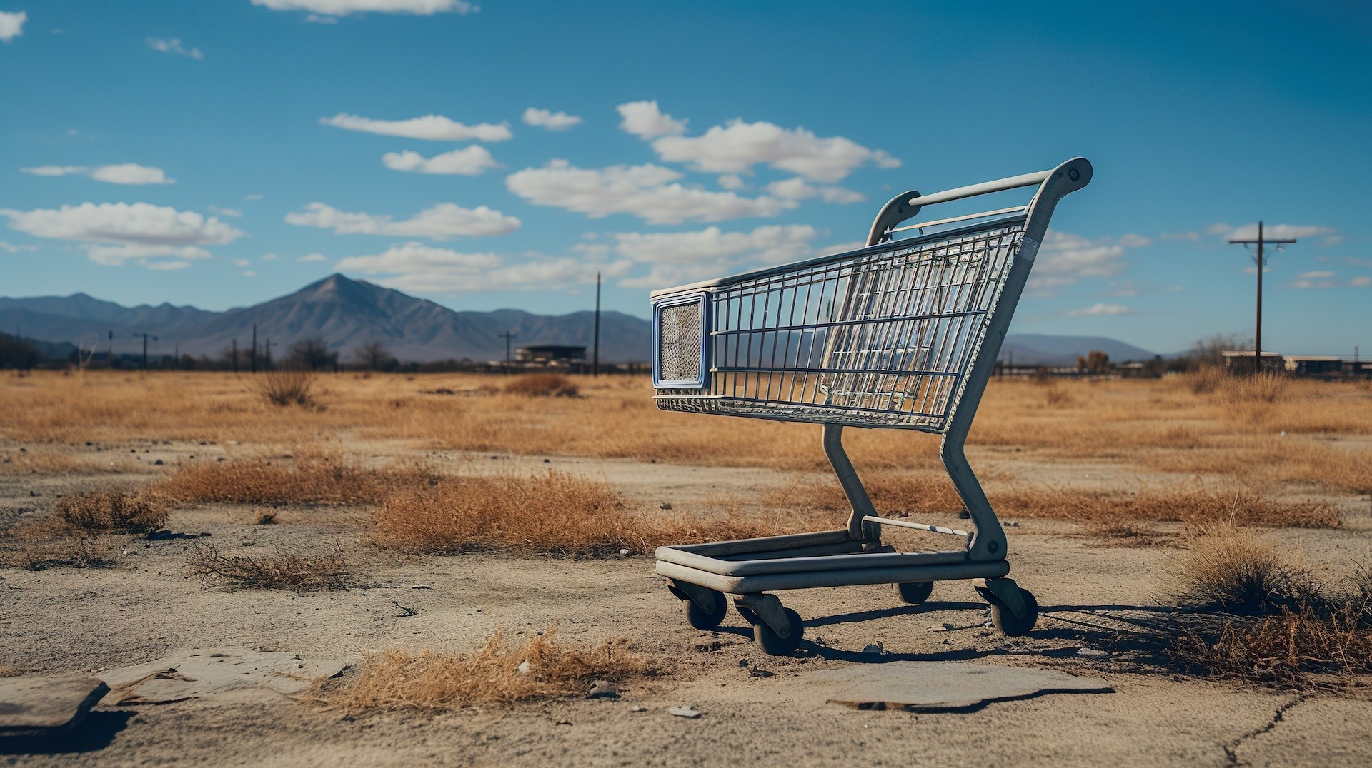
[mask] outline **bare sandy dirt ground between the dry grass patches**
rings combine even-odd
[[[162,446],[170,465],[213,446]],[[386,450],[379,446],[377,453]],[[156,457],[140,457],[145,462]],[[203,457],[202,457],[203,458]],[[576,459],[439,455],[468,470],[505,462],[604,477],[646,503],[719,505],[755,498],[794,476],[729,469]],[[486,462],[486,464],[483,464]],[[1024,472],[1026,468],[1019,468]],[[1032,469],[1032,468],[1029,468]],[[1085,479],[1107,465],[1055,465]],[[58,494],[107,488],[108,476],[4,476],[10,516],[51,509]],[[1372,551],[1372,510],[1345,502],[1339,529],[1268,535],[1314,565]],[[1144,629],[1158,610],[1179,550],[1124,549],[1073,535],[1069,525],[1011,521],[1011,575],[1041,605],[1037,628],[1008,639],[984,623],[985,603],[941,583],[921,606],[890,587],[782,594],[805,619],[792,658],[768,657],[733,610],[716,632],[687,627],[679,603],[645,557],[573,560],[479,554],[397,557],[366,544],[365,512],[287,507],[283,524],[252,525],[246,507],[202,505],[173,513],[170,528],[207,532],[225,553],[339,543],[365,586],[295,594],[202,588],[182,572],[187,540],[121,539],[114,568],[0,571],[0,661],[23,672],[102,672],[178,649],[240,646],[357,664],[365,651],[466,650],[497,629],[519,640],[556,625],[560,638],[626,638],[660,675],[619,699],[558,699],[510,709],[344,716],[318,705],[225,705],[213,699],[104,706],[82,730],[48,743],[0,745],[0,761],[25,765],[586,764],[586,765],[1351,765],[1372,763],[1372,701],[1353,691],[1302,695],[1184,676]],[[955,518],[930,520],[955,524]],[[1125,621],[1121,621],[1124,619]],[[947,629],[947,627],[954,629]],[[881,642],[885,653],[863,653]],[[1085,654],[1081,649],[1087,649]],[[1095,651],[1106,651],[1098,654]],[[819,669],[951,660],[1028,665],[1087,675],[1110,694],[1045,695],[973,712],[856,710],[826,704],[807,683]],[[755,669],[770,672],[757,675]],[[665,709],[690,705],[694,720]],[[635,712],[634,708],[645,708]],[[33,750],[38,750],[34,753]]]

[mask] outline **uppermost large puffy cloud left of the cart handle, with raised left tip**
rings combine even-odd
[[[734,119],[701,136],[683,136],[685,122],[660,112],[656,101],[620,104],[619,111],[624,115],[620,128],[652,139],[659,159],[700,171],[746,173],[755,165],[767,165],[809,181],[833,182],[866,163],[900,167],[900,160],[882,149],[868,149],[842,136],[822,139],[804,128]]]

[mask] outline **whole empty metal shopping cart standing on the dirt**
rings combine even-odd
[[[966,579],[1002,632],[1033,628],[1039,606],[1006,577],[1006,533],[963,443],[1048,219],[1089,181],[1091,163],[1074,158],[934,195],[910,191],[881,208],[866,248],[653,292],[657,406],[822,424],[852,505],[838,531],[657,547],[657,573],[691,627],[718,627],[733,595],[763,650],[789,654],[801,620],[772,591],[893,583],[919,603],[934,581]],[[936,203],[1034,185],[1025,206],[897,226]],[[940,455],[973,531],[881,517],[844,453],[844,427],[943,435]],[[965,544],[901,553],[882,543],[885,527]]]

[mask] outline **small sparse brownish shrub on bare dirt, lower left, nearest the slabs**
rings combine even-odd
[[[200,586],[250,587],[258,590],[343,590],[353,583],[343,549],[333,544],[328,553],[303,557],[277,547],[273,554],[226,555],[213,544],[196,543],[187,553],[185,572],[200,579]]]

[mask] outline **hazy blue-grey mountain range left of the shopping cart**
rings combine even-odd
[[[321,337],[332,350],[347,352],[368,341],[381,341],[401,361],[490,361],[505,358],[501,333],[512,332],[514,346],[591,346],[595,315],[590,311],[560,317],[520,310],[454,311],[365,280],[332,274],[305,288],[251,307],[222,313],[173,304],[123,307],[85,293],[0,298],[0,328],[32,339],[106,343],[132,351],[133,333],[152,333],[180,346],[182,354],[215,357],[233,339],[244,348],[257,324],[258,340],[284,350],[306,337]],[[652,324],[623,313],[601,313],[601,359],[641,362],[649,357]],[[280,351],[277,351],[280,354]]]

